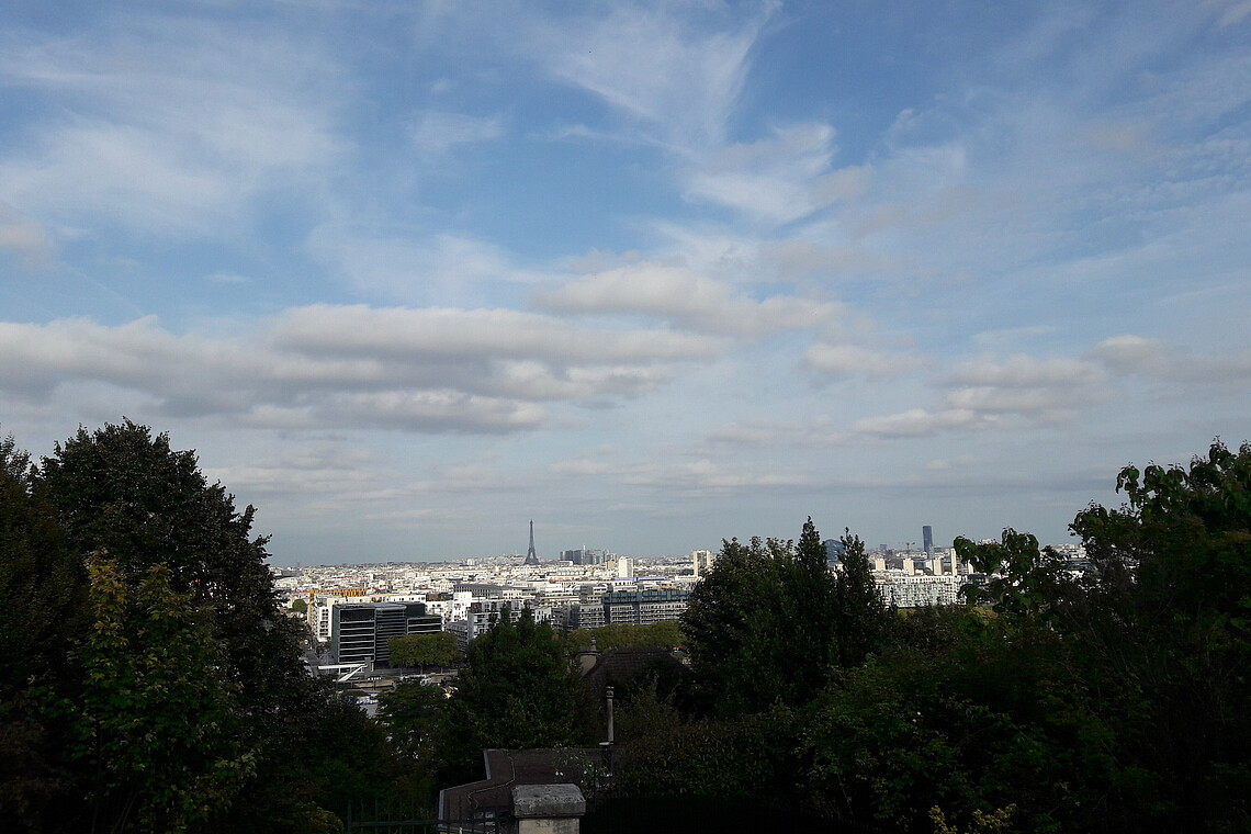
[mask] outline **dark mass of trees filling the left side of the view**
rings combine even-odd
[[[0,440],[0,829],[330,831],[407,790],[305,673],[251,524],[129,421],[38,465]]]

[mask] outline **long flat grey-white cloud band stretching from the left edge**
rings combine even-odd
[[[39,401],[104,384],[169,415],[263,426],[507,433],[548,421],[544,404],[639,396],[717,351],[707,338],[512,310],[314,305],[233,338],[175,335],[153,316],[0,323],[0,389]]]

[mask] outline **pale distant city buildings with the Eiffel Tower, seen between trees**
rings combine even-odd
[[[966,584],[985,576],[960,563],[953,548],[936,548],[929,525],[919,546],[879,545],[866,553],[888,605],[921,608],[960,600]],[[824,541],[831,570],[841,569],[838,539]],[[1083,569],[1081,545],[1053,545]],[[343,564],[275,569],[288,604],[300,599],[327,668],[389,668],[389,640],[408,634],[448,631],[460,649],[487,631],[503,611],[513,619],[528,609],[559,631],[605,625],[652,625],[676,620],[692,589],[717,561],[717,551],[671,556],[620,556],[607,549],[577,548],[543,560],[527,553],[457,561]]]

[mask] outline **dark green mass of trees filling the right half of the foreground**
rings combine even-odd
[[[1126,468],[1071,530],[957,540],[968,605],[889,611],[863,546],[728,541],[683,616],[689,696],[622,710],[636,798],[888,831],[1251,830],[1251,446]]]

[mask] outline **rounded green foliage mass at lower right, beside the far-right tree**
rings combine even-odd
[[[1088,830],[1115,761],[1065,641],[977,609],[901,616],[867,664],[804,713],[808,801],[826,815],[931,830],[1017,803],[1022,830]]]

